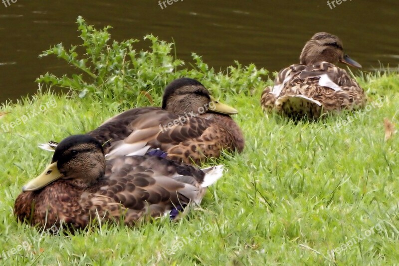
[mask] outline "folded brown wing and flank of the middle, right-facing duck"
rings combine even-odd
[[[168,158],[185,163],[200,163],[218,157],[221,149],[232,147],[233,136],[226,128],[206,115],[179,116],[166,111],[144,114],[130,124],[132,133],[110,147],[107,160],[134,152],[149,145],[168,154]]]

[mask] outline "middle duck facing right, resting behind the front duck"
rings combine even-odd
[[[221,150],[243,150],[244,137],[230,117],[236,113],[216,101],[199,81],[180,78],[165,88],[162,107],[125,111],[88,134],[104,144],[107,159],[149,146],[166,152],[170,159],[200,164],[218,158]]]

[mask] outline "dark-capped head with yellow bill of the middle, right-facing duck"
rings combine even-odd
[[[238,113],[233,107],[216,101],[198,80],[192,78],[176,79],[165,88],[162,109],[175,114]]]

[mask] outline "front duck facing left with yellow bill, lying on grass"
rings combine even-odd
[[[199,170],[157,156],[106,161],[97,139],[75,135],[61,141],[51,164],[23,186],[14,214],[44,229],[83,229],[96,217],[126,225],[144,217],[175,219],[177,210],[200,205],[206,187],[221,176],[222,166]]]

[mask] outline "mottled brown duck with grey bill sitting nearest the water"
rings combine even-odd
[[[300,63],[282,69],[274,86],[263,91],[262,108],[294,118],[319,118],[325,112],[364,107],[364,90],[345,69],[335,65],[338,62],[362,67],[344,54],[337,36],[316,33],[305,44]]]

